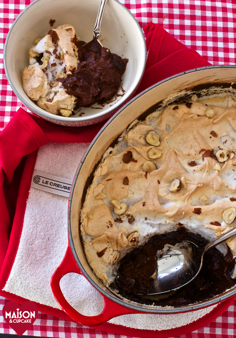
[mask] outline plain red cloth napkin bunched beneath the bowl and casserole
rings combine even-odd
[[[148,58],[136,94],[171,75],[210,65],[160,26],[150,23],[144,27],[144,31]],[[16,254],[20,239],[23,216],[15,212],[17,203],[19,206],[23,203],[21,194],[18,198],[19,189],[26,191],[30,188],[31,177],[25,177],[26,181],[21,180],[26,164],[30,167],[29,159],[33,167],[37,149],[48,142],[91,142],[104,123],[79,128],[63,127],[20,108],[0,133],[0,280],[3,275],[5,279],[6,268],[10,271],[9,262]],[[30,157],[26,158],[29,154]]]

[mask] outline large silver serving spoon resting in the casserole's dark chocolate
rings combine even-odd
[[[166,244],[162,256],[157,259],[157,273],[148,295],[177,290],[190,283],[202,268],[205,252],[235,235],[236,227],[204,247],[190,241],[174,246]]]

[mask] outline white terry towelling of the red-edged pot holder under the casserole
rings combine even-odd
[[[35,169],[73,179],[88,143],[49,143],[41,147]],[[16,259],[3,290],[60,309],[51,287],[53,272],[61,263],[68,244],[68,197],[30,188]],[[104,301],[87,280],[76,273],[62,277],[61,290],[67,301],[83,315],[102,312]],[[132,314],[109,322],[125,327],[167,330],[188,324],[215,306],[183,314]]]

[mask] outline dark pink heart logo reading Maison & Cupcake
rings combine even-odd
[[[22,306],[15,301],[8,301],[2,309],[2,315],[7,324],[21,337],[35,322],[38,308],[32,301],[25,301]]]

